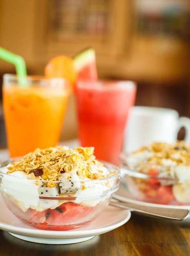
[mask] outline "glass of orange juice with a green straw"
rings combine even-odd
[[[4,74],[2,102],[10,157],[58,144],[69,83],[63,78]]]

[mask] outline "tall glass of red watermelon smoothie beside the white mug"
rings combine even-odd
[[[97,159],[119,165],[123,132],[135,97],[133,81],[77,81],[80,145],[93,146]]]

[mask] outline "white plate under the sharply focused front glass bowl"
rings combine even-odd
[[[31,227],[7,209],[0,196],[0,229],[11,235],[35,243],[44,244],[71,244],[79,243],[104,234],[125,224],[131,217],[126,209],[108,206],[96,220],[85,227],[67,231],[47,231]]]

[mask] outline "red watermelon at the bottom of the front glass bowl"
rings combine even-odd
[[[96,207],[76,204],[74,202],[65,202],[55,209],[45,209],[36,211],[36,209],[22,209],[14,202],[14,199],[6,198],[8,208],[17,218],[38,229],[45,230],[69,230],[90,222],[97,214]],[[101,207],[97,207],[101,209]]]

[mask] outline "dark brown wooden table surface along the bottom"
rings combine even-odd
[[[0,230],[0,256],[187,256],[190,219],[165,220],[132,213],[110,232],[81,243],[47,245],[27,242]]]

